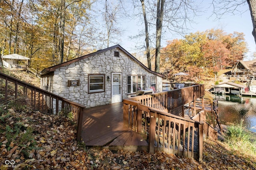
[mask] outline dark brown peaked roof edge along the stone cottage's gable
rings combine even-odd
[[[128,53],[128,51],[126,51],[124,48],[122,48],[120,45],[114,45],[112,47],[109,47],[109,48],[106,48],[106,49],[102,49],[102,50],[98,50],[94,53],[90,53],[88,55],[84,55],[82,57],[78,57],[76,59],[73,59],[73,60],[70,60],[70,61],[66,61],[64,63],[61,63],[61,64],[57,64],[55,66],[51,66],[51,67],[48,67],[48,68],[44,68],[44,70],[42,70],[40,72],[40,75],[44,75],[44,74],[48,74],[50,72],[53,72],[55,71],[57,68],[60,68],[62,66],[66,66],[68,64],[71,64],[71,63],[74,63],[76,61],[80,61],[82,59],[86,59],[88,57],[91,57],[91,56],[94,56],[94,55],[97,55],[97,54],[100,54],[100,53],[104,53],[105,51],[108,51],[108,50],[111,50],[111,49],[114,49],[114,48],[119,48],[120,50],[122,50],[124,53],[126,53],[126,55],[128,55],[130,58],[132,58],[135,62],[137,62],[138,64],[140,64],[144,69],[146,69],[148,72],[151,72],[153,74],[156,74],[157,76],[161,76],[161,77],[164,77],[163,74],[160,74],[158,72],[154,72],[150,69],[148,69],[148,67],[146,67],[144,64],[142,64],[140,61],[138,61],[138,59],[136,59],[134,56],[132,56],[130,53]]]

